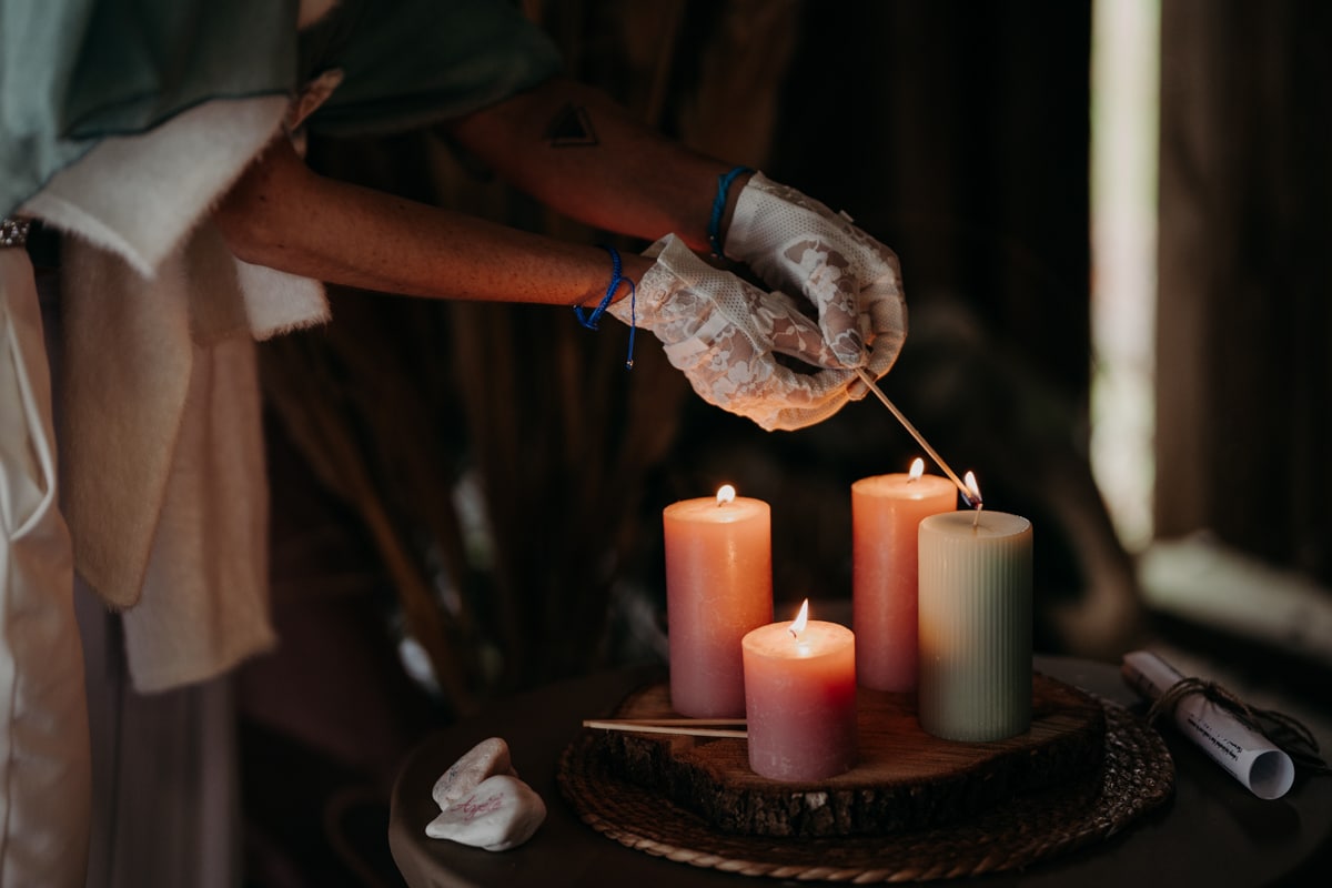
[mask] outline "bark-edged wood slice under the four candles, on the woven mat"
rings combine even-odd
[[[583,759],[725,832],[782,837],[922,829],[1052,785],[1087,800],[1099,785],[1104,710],[1044,675],[1032,682],[1031,730],[992,743],[926,734],[906,694],[860,688],[856,710],[856,766],[817,783],[759,776],[749,766],[746,740],[731,738],[591,730]],[[615,712],[623,719],[671,715],[665,684],[639,690]]]

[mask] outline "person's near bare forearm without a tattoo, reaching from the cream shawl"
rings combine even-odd
[[[321,177],[285,140],[246,172],[216,218],[248,262],[369,290],[594,305],[610,281],[603,249]],[[633,280],[650,265],[622,260]]]

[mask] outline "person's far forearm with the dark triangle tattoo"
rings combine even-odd
[[[589,225],[705,252],[730,164],[667,140],[605,93],[555,79],[454,121],[457,141],[507,181]],[[730,189],[730,206],[743,178]],[[725,220],[721,229],[725,232]]]

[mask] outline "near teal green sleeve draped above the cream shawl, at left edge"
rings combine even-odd
[[[0,216],[101,137],[290,93],[297,0],[0,0]]]

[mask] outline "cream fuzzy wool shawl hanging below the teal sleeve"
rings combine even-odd
[[[274,643],[254,339],[328,318],[322,285],[240,262],[206,220],[290,100],[214,100],[112,137],[24,212],[71,237],[61,461],[75,566],[124,610],[140,691]]]

